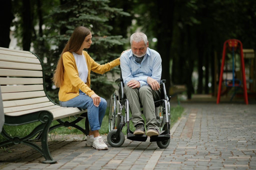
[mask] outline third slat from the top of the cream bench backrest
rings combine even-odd
[[[0,61],[41,64],[38,59],[0,54]]]

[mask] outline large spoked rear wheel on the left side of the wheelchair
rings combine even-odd
[[[118,103],[116,96],[119,96],[118,90],[115,90],[114,93],[111,95],[110,104],[109,104],[109,132],[112,129],[118,128],[120,124],[120,104]],[[120,98],[120,96],[119,96]]]

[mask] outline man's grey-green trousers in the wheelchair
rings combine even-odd
[[[125,85],[124,92],[129,101],[133,125],[136,127],[136,124],[138,123],[145,124],[141,115],[141,101],[143,114],[146,118],[146,128],[154,128],[158,130],[154,101],[161,98],[161,90],[152,90],[150,86],[142,86],[138,89]]]

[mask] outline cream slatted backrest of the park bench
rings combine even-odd
[[[56,107],[45,91],[42,63],[31,52],[0,47],[0,85],[4,113],[10,116]]]

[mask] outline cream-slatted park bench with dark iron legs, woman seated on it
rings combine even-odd
[[[18,126],[41,122],[25,137],[13,137],[3,128],[1,134],[7,140],[0,142],[0,147],[24,143],[44,156],[46,161],[43,163],[56,163],[48,148],[49,131],[61,126],[72,126],[88,135],[87,110],[61,107],[47,95],[43,64],[36,54],[0,47],[0,85],[2,94],[2,97],[0,95],[0,114],[4,113],[5,125]],[[75,116],[77,119],[72,122],[61,120],[61,118],[74,115],[79,116]],[[86,118],[85,129],[76,124],[84,117]],[[59,124],[51,127],[53,120],[57,120]],[[32,142],[36,140],[41,140],[41,146]]]

